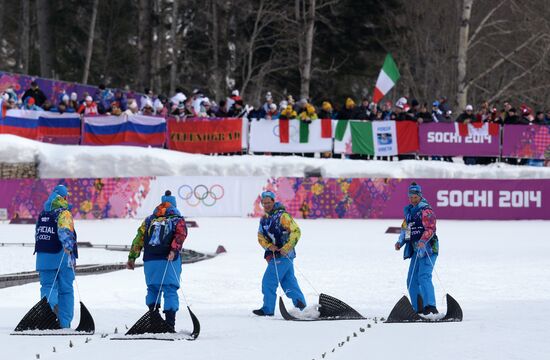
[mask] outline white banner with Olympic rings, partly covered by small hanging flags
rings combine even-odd
[[[300,120],[290,120],[289,142],[281,143],[279,120],[252,120],[250,123],[250,151],[281,153],[313,153],[332,150],[332,139],[321,137],[321,121],[309,125],[309,141],[300,143]]]

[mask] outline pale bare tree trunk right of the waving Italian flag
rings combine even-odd
[[[462,6],[462,21],[458,36],[458,89],[456,94],[456,104],[458,111],[464,110],[468,101],[468,85],[466,84],[466,71],[468,67],[468,38],[470,32],[470,18],[472,15],[472,6],[474,0],[464,0]]]

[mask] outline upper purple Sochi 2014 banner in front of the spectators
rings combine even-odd
[[[460,136],[454,123],[420,124],[420,155],[499,156],[498,136]]]

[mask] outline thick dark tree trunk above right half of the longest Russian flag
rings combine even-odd
[[[137,84],[143,87],[151,87],[151,59],[152,59],[152,37],[151,12],[153,11],[152,0],[139,0],[138,9],[138,57],[139,70]]]

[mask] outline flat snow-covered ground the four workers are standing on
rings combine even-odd
[[[79,277],[82,300],[97,334],[18,337],[9,333],[38,301],[37,283],[0,289],[2,359],[548,359],[550,223],[440,221],[441,254],[434,275],[440,310],[445,291],[464,311],[462,323],[382,324],[365,321],[287,322],[257,318],[265,262],[256,242],[257,219],[200,218],[185,246],[227,253],[184,266],[183,291],[201,321],[195,342],[110,341],[144,312],[141,269]],[[136,220],[77,221],[79,240],[129,244]],[[316,291],[338,297],[367,317],[387,316],[405,292],[408,261],[385,234],[391,220],[299,220],[298,280],[309,303]],[[2,242],[32,242],[32,225],[0,225]],[[82,249],[80,263],[124,261],[123,252]],[[31,248],[0,247],[0,273],[32,270]],[[183,301],[182,301],[183,303]],[[286,301],[287,306],[290,302]],[[73,325],[78,323],[78,314]],[[367,325],[371,324],[371,328]],[[185,311],[177,327],[189,329]],[[367,328],[360,332],[359,328]],[[357,337],[353,337],[353,333]],[[346,342],[350,336],[350,341]],[[69,342],[73,347],[69,347]],[[342,347],[338,343],[345,342]],[[53,352],[55,347],[56,352]],[[332,352],[332,349],[335,349]]]

